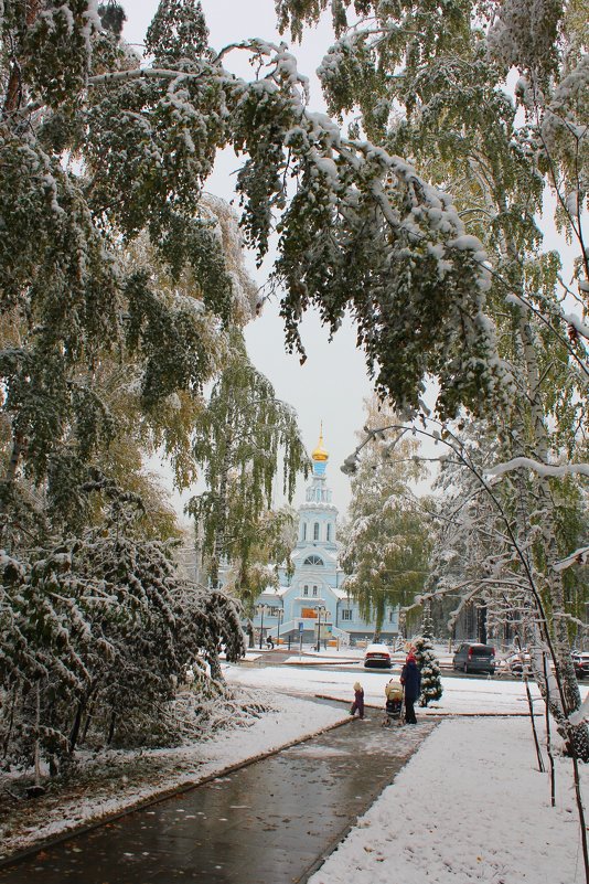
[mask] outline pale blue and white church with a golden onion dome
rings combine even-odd
[[[268,587],[256,601],[253,619],[258,641],[271,636],[304,643],[338,641],[342,645],[364,639],[371,641],[374,622],[360,617],[358,606],[345,589],[345,575],[338,565],[338,509],[331,501],[326,483],[329,454],[323,447],[323,434],[312,452],[313,470],[299,507],[298,542],[291,553],[294,571],[290,578],[286,569],[279,573],[278,587]],[[386,611],[382,625],[382,641],[398,633],[397,608]]]

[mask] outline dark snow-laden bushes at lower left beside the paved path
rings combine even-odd
[[[245,651],[235,600],[180,581],[170,548],[137,534],[140,501],[100,477],[86,492],[108,501],[98,530],[0,560],[4,755],[30,764],[38,744],[54,771],[81,743],[174,739],[157,722],[186,667],[221,641]]]

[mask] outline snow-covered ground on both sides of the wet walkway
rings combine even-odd
[[[121,753],[125,776],[119,770],[110,788],[93,785],[53,801],[47,796],[34,809],[28,802],[26,816],[12,820],[10,831],[0,827],[3,855],[345,720],[347,705],[334,709],[308,697],[325,694],[347,704],[358,679],[354,670],[260,667],[256,661],[224,664],[224,671],[229,683],[249,686],[259,700],[271,697],[274,711],[248,728],[216,733],[204,743],[142,753],[143,764],[153,761],[148,775],[133,768],[137,754]],[[383,707],[390,677],[388,671],[362,671],[370,705]],[[418,716],[459,717],[442,721],[426,738],[310,884],[583,884],[571,764],[557,759],[553,809],[548,776],[536,770],[529,720],[521,716],[527,710],[524,685],[494,679],[442,681],[437,707],[418,710]],[[542,713],[537,689],[531,684],[531,690]],[[583,695],[587,690],[581,686]],[[463,715],[497,712],[505,717]],[[368,709],[371,714],[376,712]],[[536,722],[543,739],[544,720]],[[404,733],[410,742],[418,731],[419,724]],[[587,798],[586,769],[582,776]]]

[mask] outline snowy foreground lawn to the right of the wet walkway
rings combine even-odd
[[[535,764],[523,718],[442,722],[309,884],[581,884],[571,763],[555,808]]]

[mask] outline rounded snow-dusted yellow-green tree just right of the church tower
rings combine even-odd
[[[375,397],[366,402],[367,426],[390,423],[396,415]],[[366,446],[352,479],[349,520],[341,534],[345,588],[362,616],[383,625],[387,607],[411,605],[428,576],[429,528],[411,489],[422,478],[417,445],[406,434],[395,444],[375,438]]]

